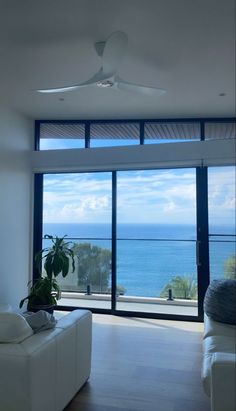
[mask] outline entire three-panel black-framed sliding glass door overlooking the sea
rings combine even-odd
[[[197,319],[209,278],[235,278],[233,167],[38,177],[35,238],[42,225],[76,255],[61,306]]]

